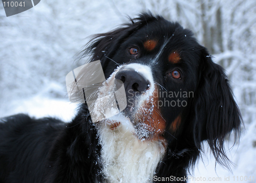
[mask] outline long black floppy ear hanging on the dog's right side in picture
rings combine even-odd
[[[223,68],[212,62],[205,48],[201,49],[199,68],[199,83],[193,100],[195,142],[200,147],[201,142],[207,140],[216,161],[229,168],[224,140],[232,130],[235,137],[239,138],[241,113]]]

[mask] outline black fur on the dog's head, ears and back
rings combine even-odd
[[[133,59],[123,52],[131,43],[140,48],[140,42],[150,36],[161,45],[164,36],[172,37],[167,50],[180,53],[182,62],[178,67],[184,77],[177,82],[166,77],[173,65],[164,61],[167,55],[163,53],[153,67],[154,81],[168,91],[184,88],[194,91],[195,96],[183,98],[188,103],[186,107],[161,108],[166,120],[163,137],[167,148],[156,176],[186,176],[200,155],[203,141],[208,142],[217,162],[228,167],[224,140],[232,130],[239,136],[242,120],[223,68],[212,62],[207,50],[178,23],[151,14],[131,20],[131,24],[117,30],[96,35],[83,54],[92,54],[92,61],[101,60],[108,78],[117,67],[109,58],[119,64],[145,64],[158,53],[143,51]],[[180,126],[170,131],[178,115],[181,115]],[[71,123],[52,118],[36,120],[27,115],[7,117],[0,123],[0,182],[103,182],[98,161],[100,149],[86,104],[80,105]]]

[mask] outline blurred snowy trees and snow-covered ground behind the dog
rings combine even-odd
[[[190,173],[198,179],[221,177],[216,182],[256,182],[255,0],[41,0],[10,17],[1,3],[0,117],[26,112],[70,121],[76,105],[68,100],[65,77],[83,64],[74,60],[87,37],[110,31],[127,16],[147,10],[193,30],[214,61],[226,69],[245,122],[239,146],[236,143],[227,152],[234,163],[232,172],[215,168],[205,145],[203,161]]]

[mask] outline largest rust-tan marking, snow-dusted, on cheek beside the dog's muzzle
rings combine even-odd
[[[164,141],[161,136],[165,131],[166,122],[161,115],[161,110],[158,107],[158,89],[155,89],[153,96],[150,97],[148,102],[144,103],[144,106],[138,112],[140,115],[137,116],[138,121],[142,122],[144,128],[150,131],[149,140],[152,141]],[[154,105],[154,106],[153,106]]]

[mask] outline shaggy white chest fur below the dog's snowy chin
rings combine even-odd
[[[123,120],[111,129],[106,123],[98,126],[102,174],[106,182],[153,182],[153,176],[164,154],[158,141],[139,140],[130,120]]]

